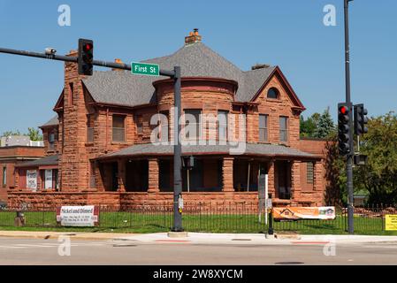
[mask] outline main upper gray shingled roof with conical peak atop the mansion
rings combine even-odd
[[[182,77],[235,80],[239,83],[235,99],[240,102],[250,101],[275,69],[275,66],[271,66],[243,72],[202,42],[185,45],[170,56],[142,62],[158,64],[168,70],[172,70],[174,65],[180,65]],[[95,102],[136,106],[155,103],[156,94],[152,83],[163,79],[167,77],[137,76],[126,71],[106,71],[94,72],[92,76],[83,79],[83,82]]]

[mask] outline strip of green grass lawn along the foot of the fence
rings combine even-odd
[[[134,213],[134,212],[101,212],[100,226],[97,227],[64,227],[58,226],[56,213],[25,212],[26,226],[15,227],[15,212],[0,212],[0,230],[19,231],[60,231],[76,233],[113,232],[113,233],[157,233],[170,231],[172,226],[171,212]],[[190,232],[209,233],[263,233],[268,227],[259,223],[254,214],[240,215],[199,215],[184,214],[183,226]],[[274,231],[305,234],[344,234],[346,218],[340,215],[334,220],[300,220],[294,222],[274,222]],[[356,234],[397,235],[397,231],[384,231],[384,219],[355,217]]]

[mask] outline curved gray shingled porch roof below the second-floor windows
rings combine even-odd
[[[229,145],[196,145],[182,146],[182,154],[229,154]],[[234,147],[235,148],[235,147]],[[120,149],[110,154],[98,157],[107,159],[113,157],[134,157],[149,155],[172,155],[172,145],[154,145],[151,143],[136,144],[126,149]],[[247,143],[244,155],[261,155],[268,157],[309,157],[318,158],[316,155],[303,152],[299,149],[291,149],[283,145]]]

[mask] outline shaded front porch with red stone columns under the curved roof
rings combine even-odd
[[[320,160],[194,157],[194,168],[182,170],[182,191],[186,199],[196,202],[202,195],[202,201],[225,201],[226,198],[238,201],[239,198],[245,199],[241,195],[250,195],[250,200],[257,201],[259,177],[267,174],[269,193],[275,205],[322,205]],[[95,178],[98,192],[134,194],[141,201],[172,200],[173,164],[170,156],[118,157],[97,161],[96,165],[99,172]]]

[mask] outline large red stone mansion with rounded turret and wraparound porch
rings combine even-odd
[[[199,132],[187,138],[216,136],[215,143],[182,147],[183,156],[195,157],[194,168],[182,172],[185,201],[257,201],[259,176],[268,174],[276,205],[323,205],[324,141],[300,138],[305,107],[279,66],[241,71],[201,39],[191,33],[172,55],[144,61],[180,65],[182,112],[196,118]],[[172,131],[150,119],[161,113],[172,126],[172,105],[172,80],[165,77],[117,70],[84,77],[65,63],[57,116],[41,126],[46,157],[19,164],[8,203],[171,203],[172,145],[150,138],[155,128],[167,140]],[[218,120],[202,132],[203,114]],[[231,128],[244,131],[242,153],[231,150]]]

